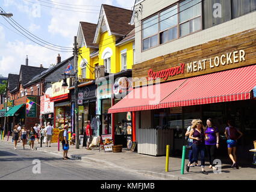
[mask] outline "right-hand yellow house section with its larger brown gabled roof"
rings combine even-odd
[[[105,73],[131,69],[134,61],[134,26],[131,10],[103,4],[93,43],[99,44],[99,65]],[[127,38],[128,37],[128,38]]]

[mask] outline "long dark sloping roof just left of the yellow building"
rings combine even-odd
[[[64,61],[61,61],[60,63],[54,65],[54,67],[48,68],[47,70],[43,71],[42,73],[37,74],[28,83],[23,85],[23,87],[25,88],[26,86],[30,86],[31,84],[33,84],[33,83],[39,81],[40,79],[48,76],[49,74],[53,73],[55,70],[58,70],[58,68],[62,67],[63,65],[65,65],[67,63],[70,63],[73,66],[73,56],[71,56],[70,58],[67,58]],[[64,74],[64,71],[63,71],[63,74]]]

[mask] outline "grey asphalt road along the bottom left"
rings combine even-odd
[[[33,164],[33,160],[37,161]],[[40,162],[40,163],[38,163]],[[40,173],[33,173],[33,170]],[[80,160],[62,160],[60,156],[30,149],[14,150],[13,145],[0,145],[0,180],[83,179],[83,180],[152,180],[155,178],[123,172],[113,167]]]

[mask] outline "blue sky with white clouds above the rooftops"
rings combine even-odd
[[[18,23],[42,40],[63,47],[73,47],[73,37],[77,35],[80,21],[98,23],[102,4],[131,10],[134,0],[0,0],[0,7],[6,13],[13,13],[11,19],[16,25]],[[58,53],[61,61],[72,56],[72,50],[49,50],[34,43],[31,41],[34,38],[26,34],[31,38],[29,40],[20,34],[23,32],[21,27],[17,28],[7,19],[20,32],[16,31],[5,19],[0,16],[0,75],[19,74],[26,55],[28,65],[39,67],[42,64],[45,68],[56,63]]]

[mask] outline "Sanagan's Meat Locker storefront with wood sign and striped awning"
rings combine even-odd
[[[243,32],[239,39],[253,33]],[[256,139],[256,46],[239,42],[225,37],[134,65],[133,91],[108,112],[136,113],[139,153],[164,155],[170,145],[172,154],[180,156],[191,120],[200,118],[206,125],[211,118],[222,136],[226,121],[236,121],[244,134],[237,150],[249,157]],[[225,140],[221,142],[219,152],[226,155]]]

